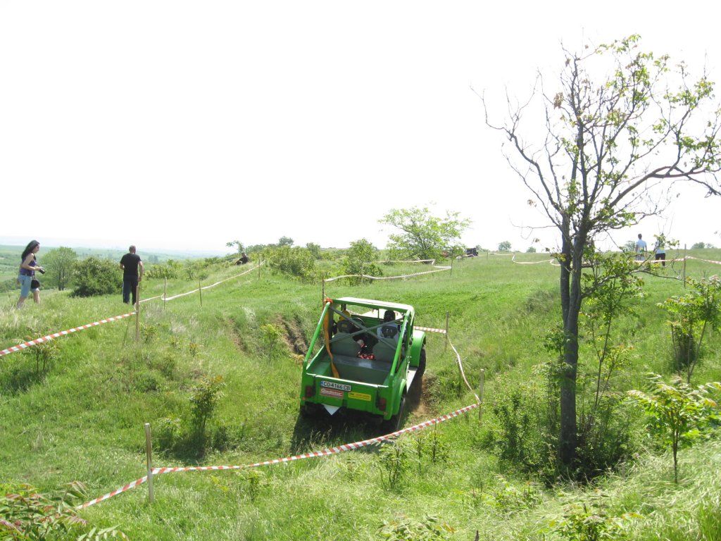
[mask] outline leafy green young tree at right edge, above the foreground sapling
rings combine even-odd
[[[691,290],[684,295],[675,295],[658,304],[668,311],[671,319],[671,340],[677,371],[686,371],[686,382],[701,356],[701,345],[709,330],[721,327],[721,279],[686,278]]]

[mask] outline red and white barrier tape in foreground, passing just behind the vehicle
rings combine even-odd
[[[436,417],[435,419],[431,419],[430,421],[424,421],[423,423],[418,423],[417,425],[410,426],[408,428],[402,428],[402,430],[392,432],[391,434],[386,434],[385,436],[378,436],[376,438],[366,439],[363,441],[355,441],[352,444],[343,444],[343,445],[339,445],[338,447],[330,447],[329,449],[323,449],[322,451],[314,451],[314,452],[309,452],[309,453],[296,454],[296,455],[293,455],[292,457],[284,457],[284,458],[278,458],[278,459],[273,459],[273,460],[265,460],[264,462],[255,462],[255,464],[248,464],[248,465],[244,465],[244,466],[156,467],[156,468],[153,468],[152,473],[153,473],[153,475],[163,475],[164,473],[176,473],[176,472],[208,472],[208,471],[218,471],[218,470],[244,470],[244,469],[247,469],[250,467],[270,466],[270,465],[275,465],[275,464],[286,464],[288,462],[296,462],[297,460],[302,460],[302,459],[306,459],[306,458],[328,457],[332,454],[338,454],[338,453],[342,453],[345,451],[353,451],[354,449],[361,449],[361,447],[367,447],[368,445],[379,444],[383,441],[387,441],[389,439],[396,438],[397,436],[400,436],[401,434],[408,434],[410,432],[416,432],[416,431],[422,430],[423,428],[427,428],[428,426],[433,426],[438,423],[443,423],[443,421],[448,421],[454,417],[458,417],[459,415],[468,413],[469,411],[474,410],[475,408],[478,408],[478,407],[479,407],[479,404],[477,404],[477,403],[472,404],[472,405],[466,406],[465,408],[456,410],[452,413],[448,413],[447,415],[441,415],[440,417]],[[85,509],[86,507],[92,506],[95,503],[105,501],[109,498],[112,498],[113,496],[118,496],[118,494],[129,491],[129,490],[131,490],[131,488],[136,488],[136,486],[146,483],[147,480],[148,480],[148,477],[146,475],[145,477],[134,480],[133,483],[128,483],[127,485],[123,485],[120,488],[116,488],[115,491],[109,492],[109,493],[105,494],[104,496],[100,496],[99,498],[95,498],[94,500],[83,503],[82,505],[77,506],[76,509]]]

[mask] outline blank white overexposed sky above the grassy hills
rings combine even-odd
[[[721,84],[721,9],[684,5],[0,0],[0,243],[384,247],[389,209],[435,203],[469,246],[554,247],[469,87],[526,97],[561,41],[631,33]],[[702,195],[616,242],[721,245]]]

